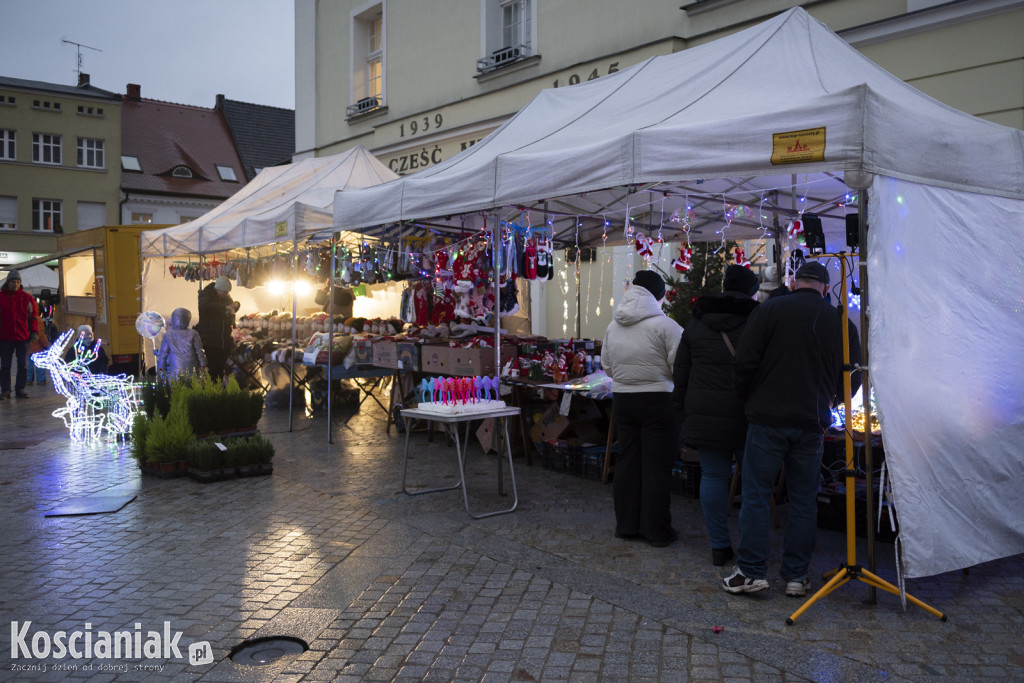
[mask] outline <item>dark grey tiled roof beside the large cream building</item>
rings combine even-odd
[[[290,163],[295,153],[295,111],[251,104],[217,95],[234,145],[252,180],[257,168]]]

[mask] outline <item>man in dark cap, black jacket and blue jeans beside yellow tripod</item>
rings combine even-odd
[[[817,261],[797,270],[792,294],[751,314],[736,348],[733,386],[743,401],[743,505],[729,593],[768,588],[769,499],[785,464],[788,493],[779,574],[785,594],[807,595],[817,533],[817,492],[824,433],[831,424],[843,353],[842,318],[825,301],[828,270]]]

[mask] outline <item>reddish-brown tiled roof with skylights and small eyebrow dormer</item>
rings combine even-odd
[[[121,154],[137,157],[142,167],[141,173],[121,174],[126,190],[226,199],[247,181],[227,123],[217,110],[125,97]],[[221,180],[216,165],[230,166],[239,181]],[[188,167],[193,177],[173,177],[178,166]]]

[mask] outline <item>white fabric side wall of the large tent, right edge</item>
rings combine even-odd
[[[868,198],[870,372],[905,574],[1024,552],[1024,201],[892,178]]]

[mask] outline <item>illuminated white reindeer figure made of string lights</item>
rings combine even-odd
[[[32,354],[32,361],[50,371],[53,388],[68,399],[65,408],[53,411],[63,420],[76,441],[117,438],[131,432],[131,423],[139,410],[135,382],[125,375],[93,375],[91,362],[99,350],[99,340],[91,349],[82,340],[75,342],[77,356],[66,362],[63,351],[74,330],[60,335],[50,347]]]

